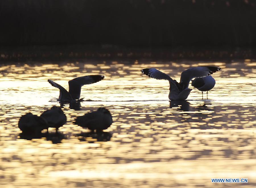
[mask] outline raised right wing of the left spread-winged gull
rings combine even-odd
[[[69,80],[69,94],[72,96],[73,99],[79,99],[81,87],[83,85],[93,84],[103,79],[104,76],[102,75],[89,75]]]

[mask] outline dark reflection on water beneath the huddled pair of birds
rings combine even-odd
[[[63,139],[67,139],[63,133],[38,133],[38,134],[24,134],[20,133],[18,139],[32,140],[46,138],[47,141],[51,141],[53,144],[59,144]]]

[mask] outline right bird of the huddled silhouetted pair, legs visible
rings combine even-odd
[[[43,117],[47,121],[47,125],[44,127],[47,129],[47,133],[49,127],[56,128],[57,133],[59,127],[63,126],[67,122],[65,113],[57,106],[53,106],[50,110],[44,111],[40,117]]]

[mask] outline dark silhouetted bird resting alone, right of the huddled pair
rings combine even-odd
[[[92,132],[101,132],[104,129],[108,129],[113,123],[112,115],[109,110],[104,107],[98,108],[97,111],[86,113],[83,116],[77,117],[75,124],[81,127],[87,127]]]

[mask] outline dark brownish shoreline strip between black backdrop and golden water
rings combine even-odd
[[[95,60],[232,61],[256,59],[256,49],[248,48],[127,48],[99,46],[0,47],[0,62]]]

